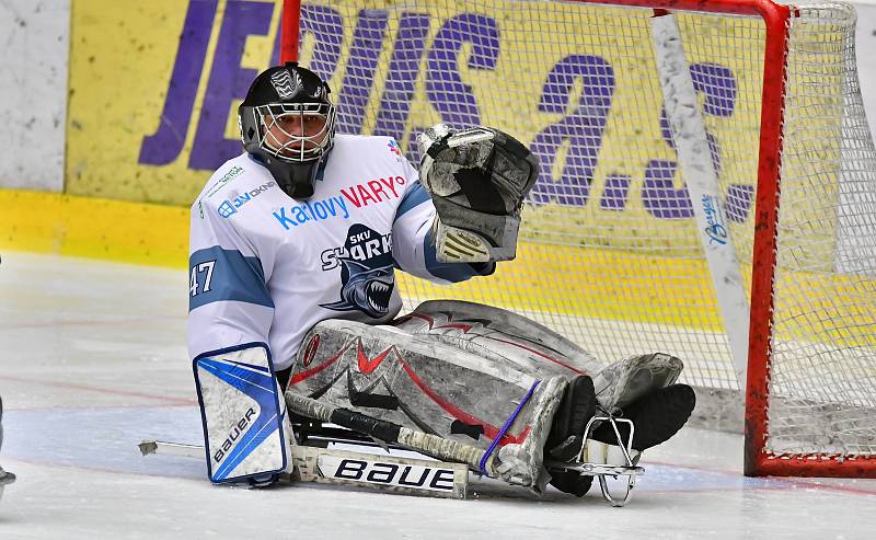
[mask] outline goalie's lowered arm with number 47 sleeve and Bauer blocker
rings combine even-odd
[[[188,349],[207,474],[217,483],[267,485],[288,470],[291,429],[267,346],[272,253],[263,250],[265,261],[231,220],[204,210],[192,212]]]

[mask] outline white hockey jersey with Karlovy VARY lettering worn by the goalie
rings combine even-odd
[[[338,135],[323,165],[307,200],[247,153],[207,182],[191,218],[192,358],[261,342],[285,369],[319,321],[394,318],[396,268],[437,283],[477,275],[436,261],[435,207],[393,139]]]

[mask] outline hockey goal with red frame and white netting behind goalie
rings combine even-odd
[[[662,9],[716,197],[685,182]],[[539,156],[518,258],[452,287],[400,277],[407,308],[500,306],[606,361],[675,354],[700,415],[745,397],[747,474],[874,476],[876,152],[854,27],[840,3],[287,0],[283,57],[331,81],[339,131],[392,136],[414,162],[438,122]]]

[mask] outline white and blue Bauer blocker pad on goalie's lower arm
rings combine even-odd
[[[267,345],[249,343],[193,360],[214,483],[272,483],[289,464],[291,428]]]

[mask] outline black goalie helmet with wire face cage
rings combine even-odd
[[[320,163],[332,149],[335,106],[328,84],[297,62],[258,74],[238,108],[243,148],[293,198],[313,195]]]

